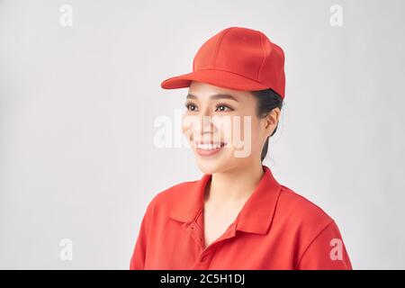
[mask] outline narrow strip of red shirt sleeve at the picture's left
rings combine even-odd
[[[132,257],[130,257],[130,270],[145,269],[145,260],[148,250],[149,222],[151,217],[150,210],[151,202],[148,204],[147,211],[140,223],[138,238],[133,249]]]

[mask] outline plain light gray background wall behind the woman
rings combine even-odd
[[[62,4],[73,26],[59,24]],[[329,23],[332,4],[343,26]],[[156,148],[204,40],[229,26],[284,48],[265,164],[320,205],[356,269],[405,268],[403,1],[0,0],[0,268],[127,269],[146,205],[199,179]],[[180,127],[175,127],[180,130]],[[59,258],[71,238],[73,260]]]

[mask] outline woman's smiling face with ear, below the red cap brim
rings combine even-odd
[[[257,117],[257,99],[248,91],[196,81],[189,86],[185,107],[183,133],[205,174],[260,163],[278,120]]]

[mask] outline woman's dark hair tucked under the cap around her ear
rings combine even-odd
[[[265,90],[258,90],[258,91],[250,91],[257,98],[257,117],[265,118],[269,112],[271,112],[275,108],[283,107],[283,98],[277,94],[273,89],[265,89]],[[273,131],[272,135],[267,137],[265,145],[263,145],[261,160],[265,159],[268,150],[268,139],[275,135],[275,131],[277,130],[277,126],[275,126],[275,130]]]

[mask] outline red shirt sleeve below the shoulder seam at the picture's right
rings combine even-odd
[[[335,221],[329,223],[311,241],[298,262],[299,270],[352,270],[340,231]]]

